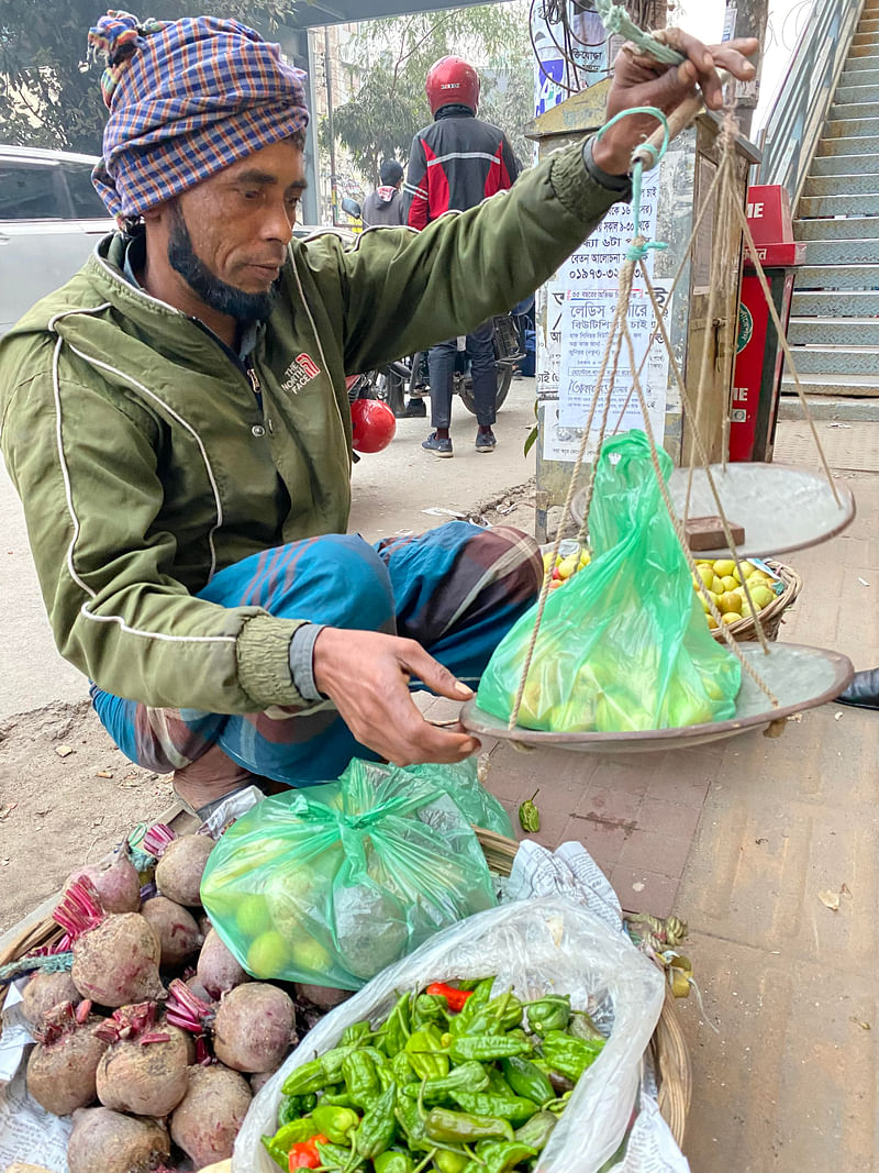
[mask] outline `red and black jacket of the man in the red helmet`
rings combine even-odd
[[[410,228],[425,228],[450,209],[466,211],[511,188],[519,167],[503,130],[466,106],[443,106],[413,138],[406,194]]]

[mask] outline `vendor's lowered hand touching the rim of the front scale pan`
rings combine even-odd
[[[463,761],[481,748],[469,733],[437,728],[422,717],[410,677],[451,700],[468,700],[472,691],[414,639],[325,628],[314,642],[313,663],[314,683],[357,741],[395,766]]]

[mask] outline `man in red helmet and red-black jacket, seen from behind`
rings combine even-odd
[[[423,229],[443,212],[466,211],[488,196],[511,188],[518,164],[503,130],[476,117],[479,75],[461,57],[441,57],[428,72],[425,90],[434,121],[413,138],[406,192],[409,225]],[[497,399],[493,324],[477,326],[466,335],[466,351],[476,400],[476,450],[493,452],[492,425]],[[436,456],[451,456],[452,375],[457,343],[431,346],[430,422],[434,430],[422,447]],[[410,401],[404,415],[425,414],[423,404]]]

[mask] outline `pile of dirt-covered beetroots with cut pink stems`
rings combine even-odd
[[[252,1096],[297,1042],[297,1009],[307,1029],[320,1017],[319,989],[251,981],[202,914],[210,838],[159,825],[144,845],[155,882],[127,847],[70,876],[53,916],[71,969],[23,991],[38,1040],[28,1091],[73,1113],[70,1173],[183,1173],[231,1157]]]

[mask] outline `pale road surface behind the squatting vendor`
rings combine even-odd
[[[533,380],[515,382],[496,428],[497,452],[473,448],[473,416],[456,402],[452,460],[437,460],[421,448],[425,420],[401,420],[386,452],[364,456],[354,469],[350,529],[369,540],[401,529],[422,530],[447,517],[422,513],[431,507],[466,510],[478,501],[525,482],[533,472],[522,446],[533,422]],[[82,676],[55,650],[43,610],[25,517],[0,462],[0,720],[41,708],[54,700],[86,696]]]

